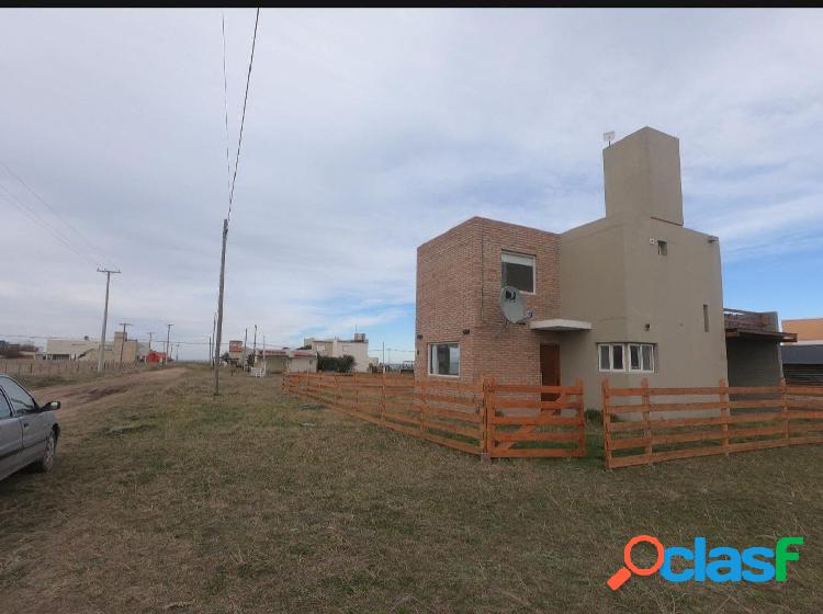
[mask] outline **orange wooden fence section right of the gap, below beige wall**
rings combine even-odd
[[[611,388],[602,383],[608,469],[823,443],[823,387]]]

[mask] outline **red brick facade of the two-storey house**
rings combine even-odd
[[[417,250],[417,373],[428,374],[430,343],[459,342],[461,380],[540,383],[540,344],[556,339],[504,319],[503,251],[534,257],[534,294],[523,294],[534,319],[560,317],[560,237],[473,217]]]

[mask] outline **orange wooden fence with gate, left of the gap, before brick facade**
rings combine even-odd
[[[288,374],[283,389],[386,429],[489,457],[585,454],[583,385]],[[555,400],[541,400],[544,396]]]

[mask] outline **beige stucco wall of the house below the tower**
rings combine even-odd
[[[668,242],[667,255],[650,239]],[[711,240],[710,240],[711,239]],[[709,235],[631,214],[610,216],[561,236],[564,318],[593,330],[562,334],[564,384],[586,382],[587,407],[600,407],[599,383],[717,386],[726,378],[720,247]],[[704,330],[708,305],[709,331]],[[646,325],[649,330],[646,330]],[[602,373],[597,343],[656,344],[654,373]]]

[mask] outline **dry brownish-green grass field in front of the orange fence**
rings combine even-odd
[[[273,377],[224,377],[215,400],[210,376],[189,367],[42,395],[81,402],[60,410],[54,473],[0,482],[3,612],[823,605],[823,446],[612,473],[597,457],[483,464],[305,407]],[[654,576],[612,593],[606,579],[639,533],[667,545],[774,547],[785,535],[805,545],[785,583]]]

